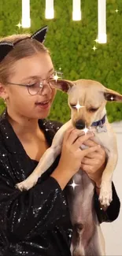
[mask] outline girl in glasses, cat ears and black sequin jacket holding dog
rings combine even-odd
[[[61,155],[29,191],[15,185],[25,180],[50,147],[61,124],[45,118],[56,95],[51,83],[54,65],[43,45],[46,28],[34,35],[12,35],[0,42],[0,95],[6,110],[0,118],[0,255],[70,256],[72,224],[65,187],[81,166],[99,187],[105,151],[78,139],[79,130],[65,132]],[[84,143],[89,148],[80,150]],[[114,221],[120,200],[113,186],[113,202],[102,210],[94,191],[98,220]]]

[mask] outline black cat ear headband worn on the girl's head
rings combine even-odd
[[[31,35],[30,37],[27,37],[27,39],[35,39],[40,43],[44,43],[47,30],[48,30],[47,26],[40,28],[33,35]],[[5,58],[7,54],[9,54],[9,51],[13,50],[14,46],[22,40],[24,39],[20,39],[16,43],[10,43],[5,41],[0,42],[0,61],[2,61],[3,58]]]

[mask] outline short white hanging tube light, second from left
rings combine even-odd
[[[46,19],[54,19],[54,0],[46,0]]]

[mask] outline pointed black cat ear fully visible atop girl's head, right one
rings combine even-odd
[[[44,43],[47,31],[48,31],[47,26],[40,28],[37,32],[35,32],[33,35],[31,35],[31,39],[35,39],[35,40],[39,41],[40,43]]]

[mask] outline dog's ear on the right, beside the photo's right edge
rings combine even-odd
[[[107,102],[122,102],[122,95],[110,89],[105,88],[104,97]]]

